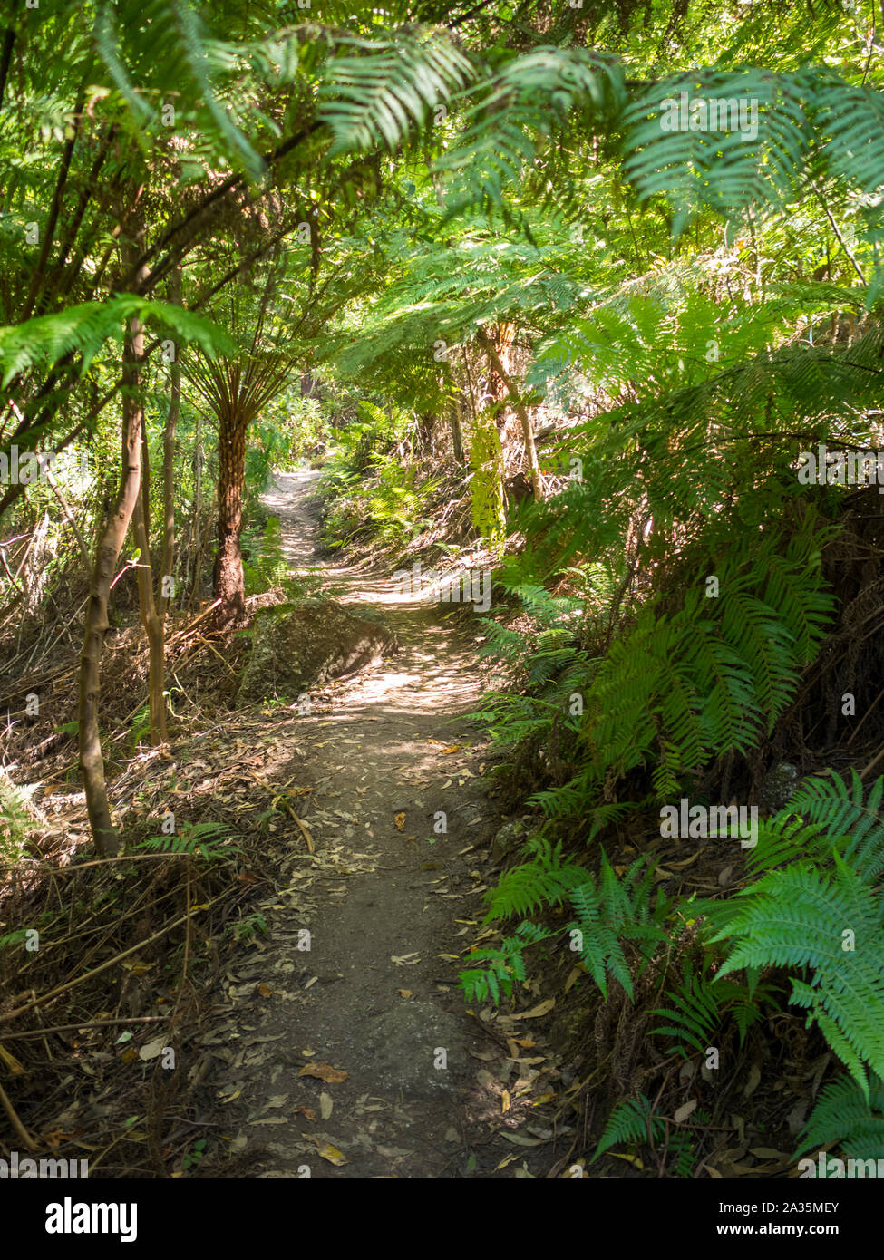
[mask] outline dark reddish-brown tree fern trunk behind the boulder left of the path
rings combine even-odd
[[[216,625],[228,626],[246,611],[246,577],[240,551],[242,485],[246,476],[248,418],[224,411],[218,417],[218,554],[214,596],[221,600]]]

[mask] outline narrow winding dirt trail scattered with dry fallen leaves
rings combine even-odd
[[[265,499],[301,571],[318,564],[315,478],[280,475]],[[540,1157],[522,1147],[541,1139],[506,1137],[525,1121],[502,1114],[503,1090],[520,1084],[506,1043],[516,1026],[472,1016],[454,983],[501,825],[480,777],[482,731],[465,718],[480,692],[475,651],[435,606],[405,601],[392,572],[323,567],[323,580],[335,598],[376,609],[400,651],[324,693],[310,716],[272,726],[261,774],[275,790],[311,789],[303,818],[315,854],[286,829],[290,883],[265,898],[267,931],[228,973],[206,1042],[219,1101],[238,1118],[238,1131],[226,1121],[233,1149],[253,1153],[246,1176],[488,1176]],[[434,834],[438,811],[446,834]],[[309,1063],[348,1076],[299,1075]],[[330,1148],[347,1163],[324,1158],[337,1158]]]

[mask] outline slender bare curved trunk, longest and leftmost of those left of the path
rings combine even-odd
[[[122,469],[116,504],[103,528],[96,552],[90,598],[86,610],[86,635],[79,658],[79,769],[86,790],[86,809],[92,839],[102,857],[113,857],[119,834],[111,822],[105,781],[105,761],[98,735],[98,701],[101,694],[101,654],[107,621],[107,597],[113,570],[126,538],[139,498],[141,479],[141,427],[144,411],[139,397],[139,364],[144,357],[144,331],[137,319],[131,319],[122,350]]]

